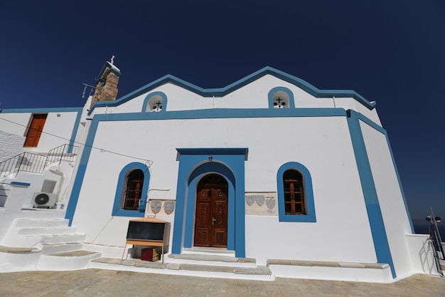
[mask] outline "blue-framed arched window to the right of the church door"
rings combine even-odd
[[[311,174],[304,165],[287,162],[279,167],[277,196],[280,222],[316,222]]]

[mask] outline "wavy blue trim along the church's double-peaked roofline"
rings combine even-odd
[[[306,82],[305,80],[302,80],[301,78],[297,78],[294,75],[290,75],[283,71],[279,71],[275,68],[266,66],[260,69],[259,71],[255,71],[254,73],[247,75],[245,78],[241,78],[240,80],[235,81],[235,83],[225,86],[224,88],[204,89],[198,87],[197,85],[193,85],[192,83],[188,83],[186,80],[182,80],[181,78],[176,78],[173,75],[169,74],[164,75],[163,77],[154,80],[153,82],[144,85],[143,87],[134,90],[134,92],[129,93],[128,95],[124,95],[124,97],[119,98],[117,100],[98,101],[90,109],[90,113],[92,113],[92,110],[94,110],[94,108],[98,107],[100,108],[105,106],[113,107],[121,105],[122,103],[126,103],[128,100],[132,100],[133,98],[136,98],[139,95],[150,92],[151,90],[154,90],[155,88],[158,88],[161,85],[165,85],[166,83],[173,83],[174,85],[178,85],[181,88],[189,90],[203,97],[213,97],[213,96],[223,97],[239,88],[244,87],[245,85],[248,85],[249,83],[252,83],[254,80],[262,78],[264,75],[273,75],[276,78],[282,79],[288,83],[296,85],[297,87],[301,88],[302,90],[306,91],[307,93],[313,95],[316,98],[332,98],[333,96],[335,96],[336,98],[354,98],[355,100],[365,105],[365,107],[367,107],[370,110],[375,108],[375,102],[370,102],[366,100],[358,93],[355,93],[355,91],[353,90],[319,90],[318,88]]]

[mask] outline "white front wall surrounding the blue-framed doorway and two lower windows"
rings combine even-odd
[[[289,131],[275,127],[305,128],[292,131],[296,144],[289,146]],[[256,257],[262,264],[267,258],[277,258],[277,253],[281,259],[376,261],[345,118],[103,122],[93,146],[153,160],[149,186],[171,189],[151,192],[149,198],[156,199],[176,198],[178,147],[248,147],[247,192],[276,192],[279,166],[300,162],[311,172],[317,222],[288,223],[278,222],[278,217],[247,216],[246,256]],[[122,245],[129,218],[112,218],[112,204],[119,172],[137,161],[92,150],[73,220],[73,226],[88,234],[87,241]],[[166,219],[173,224],[173,216]]]

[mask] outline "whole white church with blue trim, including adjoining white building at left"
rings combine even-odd
[[[129,221],[156,217],[169,223],[159,273],[199,275],[185,264],[206,257],[269,278],[437,272],[375,102],[271,67],[213,89],[166,75],[118,98],[120,75],[105,63],[83,108],[0,110],[0,259],[10,268],[54,269],[64,246],[108,259],[71,269],[119,269],[132,256]],[[40,171],[29,170],[33,156],[46,158]],[[51,221],[65,241],[43,231]]]

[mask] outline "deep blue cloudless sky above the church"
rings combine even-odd
[[[118,97],[166,74],[222,88],[272,66],[375,100],[412,217],[445,218],[443,0],[145,2],[2,1],[0,108],[80,107],[112,55]]]

